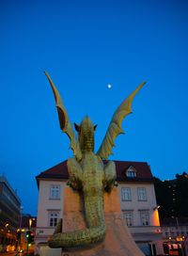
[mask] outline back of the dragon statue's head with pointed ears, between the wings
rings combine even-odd
[[[93,125],[92,121],[86,116],[80,125],[74,122],[74,127],[78,133],[78,141],[82,152],[94,152],[94,131],[97,124]]]

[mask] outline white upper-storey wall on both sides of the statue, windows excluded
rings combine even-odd
[[[52,184],[60,185],[60,200],[50,199],[50,187]],[[59,210],[59,217],[63,216],[63,200],[64,200],[64,187],[66,182],[62,181],[40,181],[39,182],[39,200],[38,200],[38,222],[37,228],[47,228],[48,213],[50,210]],[[132,200],[121,200],[121,187],[130,187]],[[147,200],[138,200],[137,187],[145,187],[147,191]],[[140,210],[149,210],[149,226],[159,226],[158,211],[153,211],[156,207],[156,199],[154,192],[154,185],[148,183],[119,183],[119,200],[121,210],[133,211],[133,226],[140,226]],[[51,228],[52,229],[52,228]],[[54,230],[54,229],[53,229]]]

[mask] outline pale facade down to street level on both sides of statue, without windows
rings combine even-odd
[[[52,184],[60,186],[60,199],[50,199],[50,188]],[[66,181],[40,181],[39,182],[39,204],[38,204],[38,222],[36,229],[36,244],[47,242],[55,228],[49,227],[49,213],[51,211],[59,211],[59,218],[63,215],[63,190],[66,187]],[[121,199],[121,188],[129,187],[131,189],[132,200]],[[138,200],[137,188],[144,187],[147,192],[147,200]],[[153,184],[149,183],[120,183],[118,185],[119,200],[122,211],[133,212],[133,226],[129,227],[133,234],[133,238],[138,243],[152,243],[161,239],[161,228],[159,223],[158,210],[153,210],[156,207],[156,199]],[[149,225],[141,224],[140,211],[146,210],[149,212]],[[126,222],[126,221],[125,221]],[[148,246],[148,244],[147,244]],[[38,247],[37,247],[38,248]],[[36,251],[38,252],[38,251]]]

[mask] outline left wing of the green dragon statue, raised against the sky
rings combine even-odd
[[[59,119],[60,128],[61,128],[63,133],[66,133],[70,137],[71,149],[73,151],[73,154],[76,157],[76,159],[78,161],[80,161],[82,159],[82,152],[80,150],[80,145],[78,143],[78,140],[77,140],[77,138],[74,134],[73,128],[71,126],[71,121],[69,119],[67,110],[66,110],[65,106],[62,103],[59,92],[55,88],[55,85],[54,85],[52,79],[50,78],[50,75],[47,72],[44,72],[44,73],[47,76],[47,78],[50,82],[50,85],[53,89],[54,95],[55,95],[55,103],[56,103],[56,108],[57,108],[57,112],[58,112],[58,119]]]

